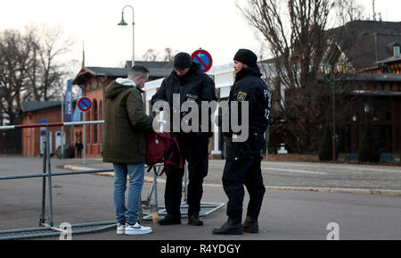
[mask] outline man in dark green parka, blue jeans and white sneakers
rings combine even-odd
[[[116,79],[106,88],[103,162],[114,167],[113,202],[118,221],[117,234],[151,233],[150,227],[138,223],[138,207],[143,187],[146,155],[145,131],[153,118],[143,112],[141,93],[149,71],[135,65],[127,79]],[[127,207],[125,193],[129,176]]]

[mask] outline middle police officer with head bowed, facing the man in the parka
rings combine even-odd
[[[191,101],[200,106],[199,123],[201,127],[201,101],[217,101],[216,88],[214,81],[207,74],[201,72],[201,65],[191,61],[191,57],[186,53],[178,53],[174,60],[174,71],[163,80],[158,92],[152,96],[151,104],[157,101],[167,101],[171,112],[180,112],[181,120],[185,117],[185,112],[173,109],[173,94],[180,94],[180,107],[186,101]],[[170,116],[173,118],[173,115]],[[180,122],[181,122],[180,120]],[[210,121],[210,117],[209,117]],[[191,121],[187,121],[191,122]],[[172,124],[172,123],[171,123]],[[210,129],[210,127],[209,127]],[[210,132],[202,132],[201,129],[184,133],[183,131],[174,132],[181,154],[188,162],[188,224],[194,226],[203,225],[199,218],[201,211],[201,196],[203,193],[203,179],[208,174],[209,157],[209,137]],[[165,204],[168,212],[160,225],[171,225],[181,223],[181,197],[184,169],[176,169],[168,166],[166,170],[166,190]]]

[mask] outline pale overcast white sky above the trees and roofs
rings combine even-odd
[[[122,29],[121,11],[135,9],[135,60],[142,60],[149,48],[163,53],[166,47],[192,54],[207,50],[213,65],[233,62],[239,48],[258,54],[261,37],[243,17],[235,2],[246,0],[12,0],[0,2],[0,30],[23,29],[27,25],[59,26],[74,40],[63,56],[77,69],[85,46],[86,66],[121,67],[132,59],[132,20]],[[372,13],[372,0],[359,0]],[[400,0],[376,0],[376,12],[383,21],[401,21]]]

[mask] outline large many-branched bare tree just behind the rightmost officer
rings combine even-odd
[[[330,88],[317,81],[319,65],[331,41],[329,27],[336,10],[350,10],[343,22],[356,19],[355,1],[248,0],[237,4],[250,25],[269,45],[274,75],[270,77],[282,117],[272,117],[271,131],[281,130],[284,141],[298,153],[315,150],[319,128],[328,120]],[[354,10],[354,11],[353,11]],[[352,12],[351,12],[352,11]],[[347,12],[348,13],[348,12]],[[338,18],[336,18],[338,19]],[[285,88],[285,101],[280,94]],[[279,122],[280,121],[280,122]],[[284,122],[282,122],[284,121]],[[274,128],[274,126],[276,128]]]

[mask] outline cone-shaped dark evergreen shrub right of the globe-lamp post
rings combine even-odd
[[[379,150],[379,143],[373,135],[371,123],[368,122],[364,127],[362,134],[362,145],[358,151],[359,162],[380,162],[381,152]]]

